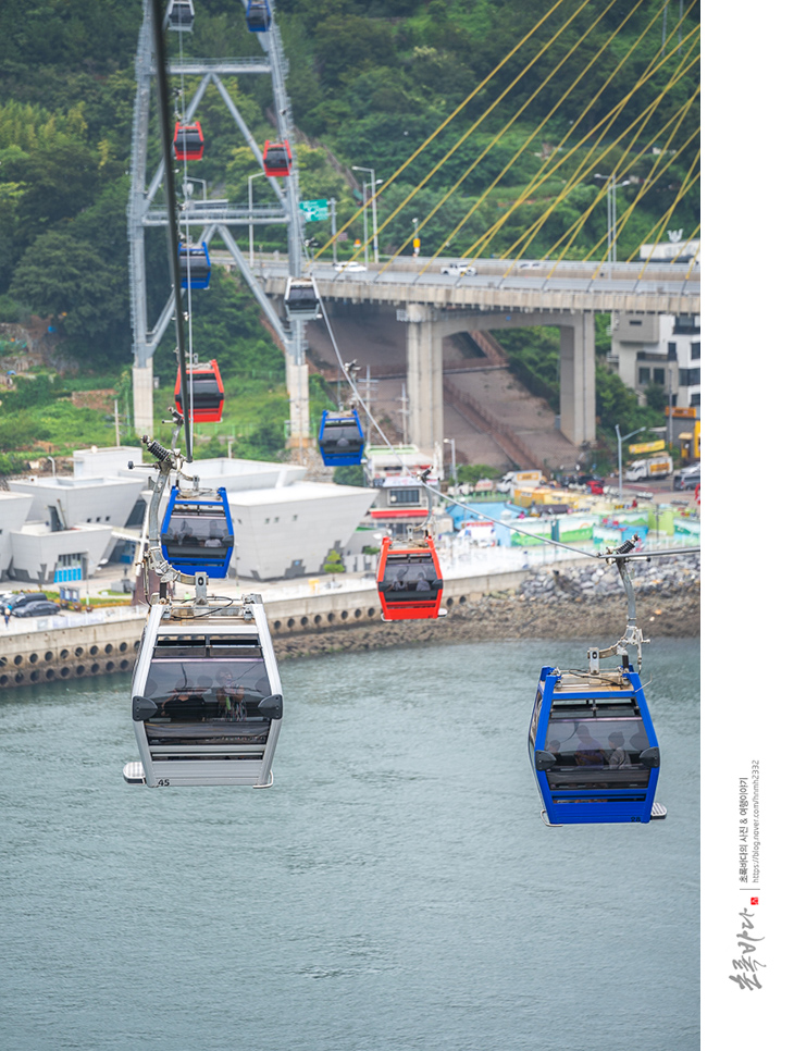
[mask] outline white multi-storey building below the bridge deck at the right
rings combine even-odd
[[[612,349],[607,359],[623,383],[644,399],[652,384],[672,386],[672,404],[700,405],[700,316],[612,314]],[[698,412],[699,415],[699,412]]]

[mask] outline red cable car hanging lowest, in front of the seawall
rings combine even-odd
[[[377,564],[377,594],[384,620],[432,620],[446,614],[442,608],[444,579],[433,537],[394,546],[384,536]]]

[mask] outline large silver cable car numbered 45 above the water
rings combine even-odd
[[[260,595],[152,606],[133,672],[139,763],[128,783],[269,788],[282,724],[278,667]]]

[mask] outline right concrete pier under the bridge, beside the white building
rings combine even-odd
[[[574,445],[594,442],[595,314],[582,310],[560,322],[560,430]]]

